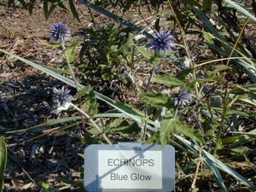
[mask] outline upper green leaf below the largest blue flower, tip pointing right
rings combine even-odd
[[[172,75],[161,74],[152,77],[152,82],[166,84],[169,87],[177,87],[184,85],[183,81],[173,77]]]

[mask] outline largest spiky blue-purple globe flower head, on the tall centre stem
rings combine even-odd
[[[154,34],[154,37],[151,39],[151,48],[155,50],[156,53],[166,52],[174,48],[173,44],[174,38],[172,32],[169,31],[160,31]]]

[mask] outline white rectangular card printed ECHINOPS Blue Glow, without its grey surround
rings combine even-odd
[[[162,151],[98,151],[102,189],[162,189],[162,168]]]

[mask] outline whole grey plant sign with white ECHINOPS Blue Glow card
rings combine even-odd
[[[84,150],[84,187],[91,192],[172,191],[174,154],[170,145],[90,145]]]

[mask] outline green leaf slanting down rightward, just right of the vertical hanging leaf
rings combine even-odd
[[[205,143],[205,140],[201,136],[200,131],[193,129],[192,126],[183,124],[180,121],[177,122],[175,131],[195,140],[197,143]]]

